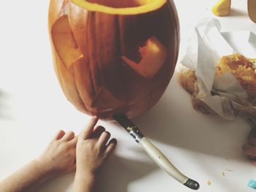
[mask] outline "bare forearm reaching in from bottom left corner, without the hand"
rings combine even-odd
[[[50,178],[48,170],[34,160],[1,181],[0,188],[1,191],[8,192],[34,191],[37,185],[48,178]]]

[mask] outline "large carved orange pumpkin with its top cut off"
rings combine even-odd
[[[157,103],[173,75],[173,1],[50,0],[48,28],[59,83],[81,112],[135,118]]]

